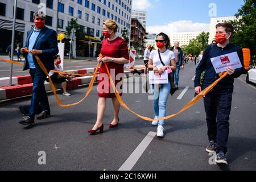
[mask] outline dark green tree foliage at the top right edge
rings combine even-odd
[[[251,56],[256,56],[256,0],[244,0],[245,4],[238,10],[238,20],[230,21],[234,26],[231,43],[243,48],[250,48]]]

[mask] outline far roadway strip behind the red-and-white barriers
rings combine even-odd
[[[0,56],[2,59],[9,60],[8,56]],[[15,59],[14,59],[15,60]],[[24,63],[24,59],[22,61]],[[142,65],[143,60],[136,60],[135,65]],[[5,61],[0,60],[0,78],[1,77],[9,77],[10,76],[10,63],[6,63]],[[64,60],[64,71],[65,70],[72,70],[72,69],[83,69],[83,68],[95,68],[97,65],[96,58],[94,57],[92,61],[88,60],[71,60],[69,63],[68,59]],[[13,64],[13,76],[20,76],[20,75],[28,75],[29,72],[22,71],[23,67],[20,65]]]

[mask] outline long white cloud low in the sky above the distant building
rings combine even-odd
[[[193,23],[192,20],[179,20],[160,26],[147,26],[147,32],[150,34],[159,34],[160,32],[164,32],[167,35],[170,35],[171,32],[199,32],[209,31],[209,29],[210,24],[198,22]]]

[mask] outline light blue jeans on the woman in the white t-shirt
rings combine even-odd
[[[155,90],[155,85],[151,85],[151,89],[154,90],[154,94],[155,92],[157,92]],[[166,117],[166,103],[167,103],[170,91],[171,91],[171,83],[169,81],[168,84],[162,84],[162,88],[159,89],[158,98],[155,98],[155,100],[153,100],[153,109],[155,111],[155,116],[158,116],[158,118]],[[159,120],[158,126],[159,125],[164,126],[164,120]]]

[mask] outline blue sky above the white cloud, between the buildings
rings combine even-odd
[[[133,9],[147,11],[147,27],[180,22],[200,24],[202,30],[210,23],[209,5],[216,4],[217,17],[233,16],[243,0],[133,0]],[[184,30],[191,31],[191,30]]]

